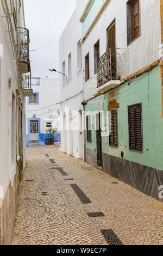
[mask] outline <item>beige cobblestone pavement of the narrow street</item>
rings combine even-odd
[[[27,155],[12,245],[163,245],[162,203],[53,146]]]

